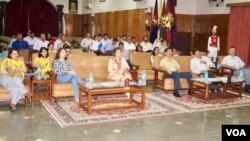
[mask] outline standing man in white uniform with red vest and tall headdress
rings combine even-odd
[[[213,26],[212,36],[208,38],[207,50],[208,56],[213,62],[216,62],[218,51],[220,50],[220,37],[216,35],[217,26]]]

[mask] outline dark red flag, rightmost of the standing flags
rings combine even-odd
[[[166,41],[169,44],[173,44],[176,40],[176,16],[175,16],[175,6],[176,6],[177,0],[168,0],[166,4],[166,15],[172,15],[173,17],[173,23],[172,26],[169,28],[166,28]]]

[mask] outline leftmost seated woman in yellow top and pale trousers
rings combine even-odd
[[[16,104],[22,95],[25,95],[26,100],[31,99],[32,94],[23,84],[26,71],[27,68],[24,62],[19,59],[18,51],[16,49],[9,50],[8,57],[1,65],[0,84],[10,91],[11,110],[16,110]]]

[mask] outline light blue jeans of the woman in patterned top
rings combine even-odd
[[[74,97],[79,98],[79,84],[83,83],[82,79],[78,75],[63,74],[57,76],[58,83],[72,83],[74,89]]]

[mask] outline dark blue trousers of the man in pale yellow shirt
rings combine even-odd
[[[186,78],[188,82],[188,87],[191,87],[192,75],[189,72],[172,72],[171,74],[165,74],[164,78],[173,78],[174,79],[174,90],[181,89],[180,78]]]

